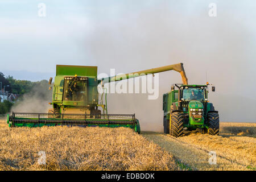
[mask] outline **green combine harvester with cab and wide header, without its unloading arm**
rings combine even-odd
[[[52,78],[49,84],[51,82]],[[49,103],[52,109],[48,113],[13,112],[7,115],[7,123],[10,127],[130,127],[140,133],[135,114],[108,114],[102,99],[99,103],[97,87],[100,82],[97,80],[97,67],[56,65],[52,102]]]

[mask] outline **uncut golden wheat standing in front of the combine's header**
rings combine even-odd
[[[172,155],[127,128],[9,128],[0,123],[0,170],[177,170]],[[46,164],[39,164],[39,151]]]

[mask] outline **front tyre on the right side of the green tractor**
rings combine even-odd
[[[208,134],[209,135],[218,135],[220,131],[220,118],[218,117],[218,113],[209,113],[208,114],[208,123],[209,123],[209,129]]]

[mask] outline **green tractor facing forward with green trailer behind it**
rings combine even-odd
[[[164,133],[174,137],[181,137],[184,131],[219,134],[218,111],[208,101],[208,86],[208,82],[206,85],[174,84],[171,92],[163,94]]]

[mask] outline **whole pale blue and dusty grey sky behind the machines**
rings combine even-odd
[[[38,15],[40,3],[46,16]],[[56,64],[97,65],[109,74],[182,62],[189,83],[216,86],[209,99],[222,121],[255,122],[255,9],[253,0],[0,0],[0,71],[38,81],[54,77]],[[143,123],[162,117],[162,94],[181,79],[176,72],[159,78],[158,100],[110,94],[109,109],[138,113]],[[120,99],[129,104],[120,107]],[[143,118],[148,110],[159,111]]]

